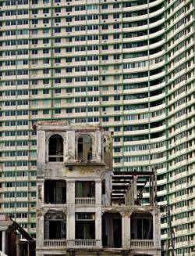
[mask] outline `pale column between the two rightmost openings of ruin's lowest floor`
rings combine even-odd
[[[129,247],[131,239],[131,219],[129,212],[122,212],[122,247]]]

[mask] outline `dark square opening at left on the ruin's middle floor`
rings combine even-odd
[[[46,180],[44,182],[44,202],[46,204],[66,204],[66,182]]]

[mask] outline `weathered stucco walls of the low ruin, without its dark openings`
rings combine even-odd
[[[49,161],[49,143],[51,135],[60,135],[63,140],[63,160]],[[78,146],[80,135],[88,135],[92,141],[92,149],[87,159],[79,159],[80,153]],[[103,132],[100,127],[93,125],[70,125],[64,121],[41,121],[37,125],[38,136],[38,157],[37,157],[37,255],[160,255],[160,215],[157,206],[126,206],[112,205],[112,138],[108,132]],[[54,146],[55,147],[55,146]],[[84,144],[81,146],[84,150]],[[81,152],[82,153],[82,152]],[[57,155],[57,153],[56,153]],[[54,156],[55,157],[55,156]],[[58,156],[57,156],[58,157]],[[59,159],[59,158],[56,158]],[[45,203],[45,193],[50,197],[51,191],[44,191],[45,182],[51,182],[53,186],[58,186],[58,181],[66,182],[66,203],[55,204]],[[102,189],[102,182],[105,182],[105,192]],[[53,182],[53,183],[52,183]],[[86,184],[94,185],[90,191],[94,197],[76,197],[76,182],[88,182]],[[80,183],[80,184],[81,184]],[[85,183],[82,183],[85,184]],[[86,186],[86,185],[85,185]],[[92,190],[91,190],[92,189]],[[52,188],[51,188],[52,190]],[[53,191],[53,190],[52,190]],[[54,190],[55,191],[55,190]],[[91,193],[92,193],[91,192]],[[129,192],[130,193],[130,192]],[[136,193],[136,192],[135,192]],[[133,202],[133,199],[129,201]],[[54,200],[52,198],[52,200]],[[65,200],[65,199],[64,199]],[[46,227],[45,216],[48,213],[63,213],[66,220],[62,223],[66,225],[66,238],[45,239]],[[131,239],[131,215],[133,213],[148,213],[151,215],[153,239],[138,241]],[[94,216],[91,223],[94,223],[94,239],[78,240],[76,239],[76,216]],[[87,215],[86,215],[87,214]],[[54,214],[55,215],[55,214]],[[109,215],[117,216],[121,220],[121,247],[103,247],[103,229],[102,218],[104,215],[106,229],[111,229],[115,222],[112,219],[112,225],[108,224]],[[52,214],[51,214],[52,216]],[[84,217],[86,218],[86,217]],[[91,217],[92,218],[92,217]],[[56,225],[58,223],[57,220]],[[85,221],[87,222],[87,220]],[[89,221],[88,221],[89,222]],[[82,224],[81,220],[80,223]],[[52,224],[52,223],[51,223]],[[51,225],[47,224],[47,225]],[[80,225],[81,225],[80,224]],[[89,224],[88,225],[92,225]],[[90,227],[91,229],[91,227]],[[62,230],[65,230],[64,228]],[[49,233],[48,233],[49,232]],[[47,236],[53,236],[52,231],[47,231]],[[107,230],[108,232],[108,230]],[[109,232],[112,232],[109,231]],[[56,231],[57,233],[57,231]],[[57,236],[57,235],[56,235]],[[60,234],[58,234],[60,236]],[[114,236],[114,235],[113,235]],[[108,241],[108,237],[106,238]],[[114,241],[114,240],[113,240]],[[113,242],[112,241],[112,242]],[[148,245],[149,244],[149,245]]]

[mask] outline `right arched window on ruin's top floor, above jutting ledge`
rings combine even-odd
[[[91,160],[92,159],[92,139],[90,135],[80,135],[78,139],[78,160]]]

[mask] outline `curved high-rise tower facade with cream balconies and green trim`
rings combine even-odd
[[[157,172],[176,255],[193,255],[194,4],[0,1],[3,213],[35,233],[37,121],[100,123],[113,133],[114,171]]]

